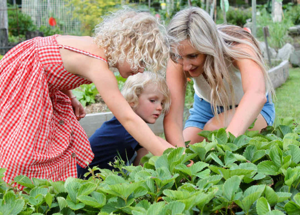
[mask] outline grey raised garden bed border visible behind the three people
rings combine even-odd
[[[274,88],[282,85],[289,77],[289,61],[282,61],[278,66],[271,68],[269,70],[269,76]],[[188,115],[188,110],[184,110],[184,115]],[[112,112],[92,113],[87,114],[85,118],[79,122],[88,137],[90,137],[96,129],[101,127],[104,121],[110,120],[112,117]],[[148,124],[155,134],[164,133],[163,119],[164,116],[161,116],[155,124]]]

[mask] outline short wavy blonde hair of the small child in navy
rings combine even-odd
[[[171,94],[166,79],[149,71],[129,76],[122,88],[122,95],[128,103],[134,103],[133,109],[139,105],[139,97],[147,85],[155,86],[164,95],[162,113],[167,113],[171,105]]]

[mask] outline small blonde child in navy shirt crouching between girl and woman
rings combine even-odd
[[[154,124],[161,114],[166,113],[171,103],[166,80],[148,71],[128,77],[122,94],[133,111],[150,124]],[[158,139],[164,142],[163,139]],[[150,151],[148,147],[143,148],[116,117],[104,122],[89,141],[95,154],[89,166],[98,166],[101,169],[112,170],[113,167],[108,163],[113,162],[117,156],[129,164],[138,165],[140,159]],[[84,178],[86,172],[88,168],[77,165],[78,178]]]

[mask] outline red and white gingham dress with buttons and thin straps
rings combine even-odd
[[[59,48],[66,47],[57,36],[24,41],[0,61],[0,167],[7,169],[6,182],[17,175],[76,177],[76,163],[85,167],[94,157],[70,99],[60,91],[91,82],[64,69]]]

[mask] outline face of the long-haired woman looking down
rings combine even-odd
[[[183,66],[183,70],[187,71],[191,77],[198,77],[203,73],[206,55],[195,49],[189,40],[183,40],[179,43],[178,52],[178,63]]]

